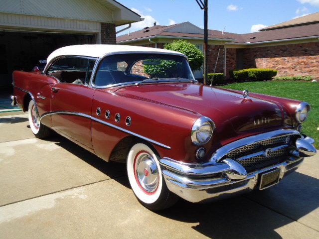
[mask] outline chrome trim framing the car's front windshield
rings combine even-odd
[[[96,72],[97,72],[97,68],[99,66],[99,64],[101,63],[102,60],[104,60],[104,58],[108,57],[108,56],[111,56],[111,55],[120,55],[120,54],[161,54],[161,55],[176,55],[176,56],[182,56],[184,58],[186,58],[187,62],[189,62],[188,60],[188,57],[185,56],[184,54],[181,54],[181,53],[174,53],[174,52],[152,52],[152,51],[123,51],[123,52],[111,52],[111,53],[107,53],[107,54],[104,54],[103,56],[101,56],[100,58],[98,58],[96,61],[95,61],[95,65],[93,67],[93,70],[92,70],[92,75],[91,75],[91,79],[90,79],[90,83],[89,83],[89,87],[92,87],[92,88],[96,88],[96,89],[105,89],[105,88],[111,88],[111,87],[116,87],[116,86],[122,86],[122,85],[134,85],[136,83],[139,83],[141,81],[134,81],[134,82],[125,82],[125,83],[118,83],[118,84],[112,84],[112,85],[105,85],[105,86],[96,86],[94,83],[93,83],[93,79],[95,78],[95,75],[96,75]],[[191,72],[191,75],[193,77],[193,79],[189,79],[189,81],[185,81],[185,82],[198,82],[195,77],[194,77],[194,74],[193,72],[191,71],[190,69],[190,66],[188,64],[188,69],[189,71]],[[172,82],[183,82],[183,81],[172,81]],[[160,83],[160,82],[158,82]],[[168,83],[168,82],[163,82],[163,83]],[[169,82],[170,83],[170,82]]]

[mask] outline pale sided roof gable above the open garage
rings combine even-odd
[[[120,25],[141,17],[114,0],[1,0],[0,12],[53,18],[115,22]],[[119,21],[119,22],[117,22]]]

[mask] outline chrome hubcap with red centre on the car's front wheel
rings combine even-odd
[[[153,193],[159,186],[159,169],[154,158],[147,152],[136,158],[135,173],[138,183],[148,193]]]

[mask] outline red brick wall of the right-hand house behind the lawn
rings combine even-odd
[[[278,76],[319,76],[319,42],[247,48],[245,68],[271,68]]]

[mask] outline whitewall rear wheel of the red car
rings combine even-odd
[[[40,119],[36,114],[33,101],[29,102],[28,118],[29,118],[30,128],[33,134],[35,135],[35,137],[45,138],[52,134],[51,129],[49,129],[47,126],[45,126],[44,124],[40,122]]]

